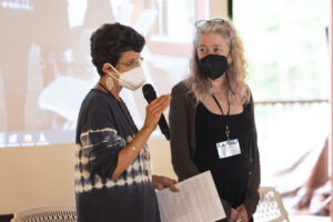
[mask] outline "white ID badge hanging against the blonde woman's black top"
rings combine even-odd
[[[218,142],[216,149],[220,159],[241,154],[241,147],[240,147],[239,139]]]

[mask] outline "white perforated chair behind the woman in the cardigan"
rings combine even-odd
[[[290,222],[280,193],[270,186],[259,189],[260,200],[253,215],[255,222]]]

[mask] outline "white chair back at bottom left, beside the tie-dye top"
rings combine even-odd
[[[44,205],[22,210],[11,222],[77,222],[74,205]]]

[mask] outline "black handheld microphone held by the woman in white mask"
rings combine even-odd
[[[153,101],[154,99],[157,99],[157,91],[149,83],[144,84],[142,87],[142,92],[143,92],[143,97],[145,98],[145,100],[147,100],[148,103],[151,103],[151,101]],[[167,140],[170,140],[169,125],[168,125],[168,122],[167,122],[163,113],[161,114],[161,118],[159,120],[159,127],[161,129],[161,132],[167,138]]]

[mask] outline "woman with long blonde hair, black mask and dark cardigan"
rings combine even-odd
[[[190,77],[172,89],[172,164],[180,181],[210,170],[226,213],[253,221],[260,160],[240,37],[229,20],[195,23]]]

